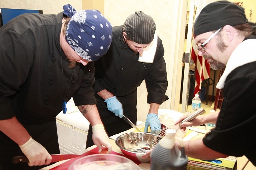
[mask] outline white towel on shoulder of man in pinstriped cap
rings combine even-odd
[[[153,63],[155,54],[156,54],[156,47],[157,47],[157,35],[155,34],[154,39],[150,43],[150,45],[144,48],[142,54],[139,55],[139,61]]]

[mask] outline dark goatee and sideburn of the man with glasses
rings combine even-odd
[[[219,35],[217,37],[217,48],[223,52],[225,51],[225,49],[228,47],[224,42],[223,40],[221,39],[222,37]],[[207,62],[210,63],[210,67],[213,69],[213,70],[218,70],[218,69],[223,69],[225,68],[226,65],[224,65],[223,63],[213,59],[213,57],[209,54],[203,54],[203,58],[204,59],[207,59]],[[210,59],[210,60],[208,60]]]

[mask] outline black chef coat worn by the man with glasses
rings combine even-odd
[[[226,78],[216,128],[203,143],[220,153],[245,155],[256,166],[256,61],[234,69]]]

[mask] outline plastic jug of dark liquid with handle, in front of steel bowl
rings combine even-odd
[[[175,136],[176,131],[167,129],[165,136],[159,140],[150,156],[150,170],[186,170],[188,157],[185,154],[183,140]],[[181,151],[175,145],[178,140]]]

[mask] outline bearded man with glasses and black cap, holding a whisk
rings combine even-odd
[[[206,5],[195,20],[198,54],[207,59],[213,69],[225,67],[225,71],[216,86],[223,89],[220,111],[181,124],[183,129],[216,124],[216,128],[204,137],[184,142],[187,156],[212,160],[245,155],[256,166],[256,135],[253,132],[256,130],[255,26],[246,19],[244,8],[229,1]],[[184,114],[175,124],[189,114]]]

